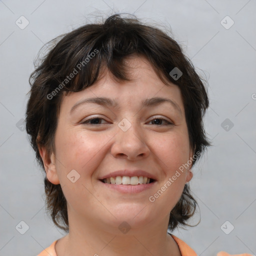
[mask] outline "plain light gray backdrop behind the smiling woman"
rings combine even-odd
[[[198,255],[256,254],[255,11],[255,0],[0,0],[0,255],[36,255],[65,235],[46,215],[43,174],[22,130],[33,60],[53,37],[114,12],[171,27],[208,80],[205,129],[213,146],[190,182],[201,222],[173,234]],[[24,29],[15,24],[21,15],[29,21]],[[220,22],[226,15],[234,21],[222,21],[228,29]],[[15,228],[21,220],[29,226],[24,234]],[[220,228],[227,220],[229,234]]]

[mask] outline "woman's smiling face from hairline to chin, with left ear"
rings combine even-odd
[[[117,82],[106,72],[91,87],[63,96],[55,152],[47,160],[40,149],[48,180],[60,183],[67,200],[69,225],[79,219],[117,229],[124,220],[137,228],[168,221],[192,177],[189,167],[179,171],[192,156],[180,89],[165,85],[143,57],[126,63],[132,81]],[[85,102],[100,97],[106,100]],[[102,182],[109,175],[112,182],[151,179]]]

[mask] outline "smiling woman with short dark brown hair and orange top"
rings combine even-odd
[[[68,234],[39,256],[196,255],[167,232],[194,213],[191,167],[210,145],[193,65],[161,30],[117,14],[59,39],[31,74],[26,131]]]

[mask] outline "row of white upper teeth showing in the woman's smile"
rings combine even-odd
[[[143,176],[116,176],[110,178],[104,178],[104,183],[108,184],[124,184],[124,185],[137,185],[137,184],[147,184],[150,178]]]

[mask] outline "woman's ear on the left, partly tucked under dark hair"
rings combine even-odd
[[[47,179],[52,184],[59,184],[59,179],[57,175],[56,165],[55,165],[55,155],[54,153],[51,153],[50,155],[47,153],[47,150],[45,147],[38,146],[40,156],[43,161],[44,170],[46,172]]]

